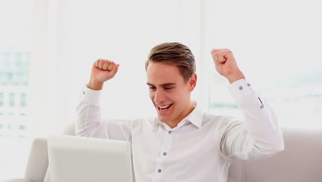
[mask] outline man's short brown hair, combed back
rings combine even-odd
[[[178,66],[184,81],[189,81],[195,72],[195,57],[191,50],[182,43],[161,43],[151,49],[148,60],[145,62],[145,70],[149,62],[169,63]]]

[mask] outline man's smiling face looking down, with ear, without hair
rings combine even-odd
[[[150,98],[160,121],[179,123],[191,112],[190,92],[195,88],[196,75],[185,83],[177,66],[150,62],[147,85]]]

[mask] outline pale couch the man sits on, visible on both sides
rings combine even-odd
[[[283,152],[264,160],[233,161],[228,182],[322,182],[322,130],[282,130]],[[63,134],[74,135],[74,123]],[[49,182],[47,167],[47,140],[35,139],[25,178],[3,182]]]

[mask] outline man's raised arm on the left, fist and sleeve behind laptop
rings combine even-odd
[[[100,92],[105,81],[118,72],[118,64],[98,59],[92,66],[91,78],[83,88],[76,111],[76,134],[96,138],[129,139],[129,122],[102,121],[100,118]]]

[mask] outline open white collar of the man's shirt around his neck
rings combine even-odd
[[[184,119],[182,119],[182,121],[180,121],[180,123],[178,123],[178,127],[185,125],[186,121],[189,121],[193,125],[197,126],[197,128],[202,127],[202,119],[204,118],[204,112],[202,112],[202,110],[200,110],[200,108],[198,107],[196,102],[193,102],[193,106],[195,106],[193,111],[188,116],[186,116]],[[154,127],[156,127],[156,125],[158,125],[158,124],[165,124],[165,123],[160,121],[158,118],[155,118]]]

